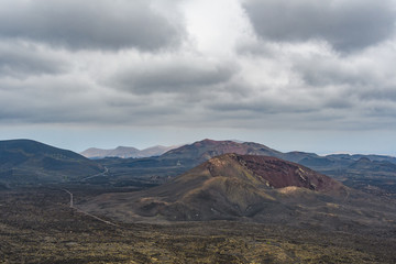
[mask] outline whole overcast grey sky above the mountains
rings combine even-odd
[[[2,0],[0,140],[396,155],[396,0]]]

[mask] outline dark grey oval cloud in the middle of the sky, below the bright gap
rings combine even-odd
[[[198,57],[152,59],[121,69],[110,80],[134,94],[199,92],[202,87],[227,82],[238,72],[235,64],[210,62]]]

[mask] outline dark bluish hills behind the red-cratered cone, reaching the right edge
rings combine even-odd
[[[283,153],[254,142],[202,140],[164,153],[158,157],[140,160],[100,160],[102,165],[112,172],[112,180],[119,179],[128,185],[134,179],[163,183],[168,177],[182,173],[208,161],[211,157],[235,153],[240,155],[264,155],[278,157],[307,166],[314,170],[331,176],[350,187],[363,189],[375,195],[396,197],[396,157],[384,155],[332,154],[319,156],[315,153]],[[363,160],[362,160],[363,158]],[[355,163],[366,160],[364,169]],[[361,169],[359,169],[359,167]]]

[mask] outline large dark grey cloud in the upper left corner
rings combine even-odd
[[[73,50],[144,51],[175,45],[183,30],[153,8],[152,0],[6,0],[0,37],[31,40]]]

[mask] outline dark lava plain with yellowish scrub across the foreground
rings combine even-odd
[[[72,189],[79,204],[102,191]],[[116,190],[111,190],[116,191]],[[0,263],[392,263],[396,230],[249,221],[98,221],[52,188],[1,193]]]

